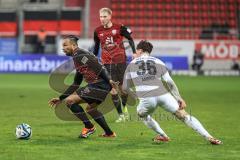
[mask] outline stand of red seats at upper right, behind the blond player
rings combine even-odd
[[[135,38],[238,39],[239,0],[111,0],[111,8]]]

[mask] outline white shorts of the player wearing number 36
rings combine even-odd
[[[170,93],[157,97],[139,98],[139,100],[137,113],[141,117],[152,114],[158,106],[171,113],[179,109],[177,100]]]

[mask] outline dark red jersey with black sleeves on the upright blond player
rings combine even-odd
[[[124,37],[131,41],[130,45],[135,53],[134,42],[130,35],[131,30],[120,24],[113,23],[110,28],[99,26],[94,32],[94,54],[97,55],[98,48],[101,45],[101,60],[103,64],[126,63],[126,53],[123,45]]]

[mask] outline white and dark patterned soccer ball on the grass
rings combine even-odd
[[[32,135],[32,128],[26,123],[17,125],[16,137],[17,139],[29,139]]]

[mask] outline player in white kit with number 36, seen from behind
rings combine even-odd
[[[154,110],[161,106],[202,135],[211,144],[222,144],[220,140],[211,136],[194,116],[185,111],[186,103],[181,98],[165,64],[150,56],[152,48],[152,44],[144,40],[137,45],[137,58],[131,61],[125,71],[122,89],[139,98],[137,114],[143,119],[146,126],[157,133],[153,140],[155,142],[170,140],[158,122],[151,117]]]

